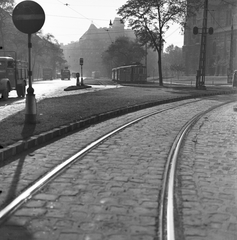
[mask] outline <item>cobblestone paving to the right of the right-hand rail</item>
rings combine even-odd
[[[235,104],[202,118],[179,159],[185,240],[237,239],[237,112]]]

